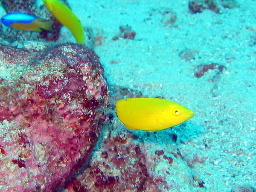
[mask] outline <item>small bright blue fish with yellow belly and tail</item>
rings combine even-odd
[[[26,30],[26,31],[38,31],[42,29],[52,31],[53,21],[43,21],[42,18],[35,15],[29,15],[26,13],[9,13],[1,18],[1,22],[13,29]]]

